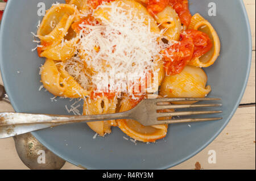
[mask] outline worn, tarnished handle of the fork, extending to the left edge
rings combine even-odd
[[[85,116],[39,115],[31,113],[2,112],[0,113],[0,138],[56,127],[57,125],[101,121],[112,119],[128,119],[130,111]]]

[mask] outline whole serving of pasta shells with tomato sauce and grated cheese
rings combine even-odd
[[[147,98],[203,98],[211,87],[202,68],[220,53],[213,26],[191,15],[188,0],[66,0],[47,10],[35,36],[46,58],[44,88],[82,99],[84,115],[127,111]],[[143,142],[165,137],[168,128],[135,120],[88,125],[100,136],[118,127]]]

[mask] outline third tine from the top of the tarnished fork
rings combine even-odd
[[[204,115],[209,113],[221,113],[222,111],[179,111],[179,112],[159,112],[158,117]]]

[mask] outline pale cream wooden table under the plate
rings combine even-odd
[[[253,36],[251,73],[240,107],[228,126],[203,151],[171,169],[255,169],[255,0],[243,0]],[[0,83],[2,79],[0,77]],[[0,102],[0,112],[14,111]],[[28,169],[20,161],[13,138],[0,140],[0,169]],[[216,163],[208,163],[208,151],[216,151]],[[65,163],[63,169],[80,169]]]

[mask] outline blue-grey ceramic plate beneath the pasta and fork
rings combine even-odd
[[[36,25],[43,18],[37,15],[39,2],[49,9],[56,0],[9,0],[7,4],[0,35],[2,78],[15,111],[68,114],[64,106],[73,102],[60,98],[52,102],[49,92],[38,90],[39,67],[44,59],[36,51],[31,52],[36,46],[31,32],[36,32]],[[200,12],[220,36],[220,57],[205,71],[208,85],[212,86],[209,96],[222,98],[223,113],[216,116],[223,120],[191,127],[170,125],[164,140],[148,145],[125,140],[123,136],[127,136],[119,128],[93,139],[95,133],[84,123],[44,129],[34,132],[34,136],[61,158],[88,169],[167,169],[210,144],[228,124],[245,90],[251,61],[250,26],[242,0],[189,2],[192,14]],[[216,16],[208,15],[210,2],[216,3]]]

